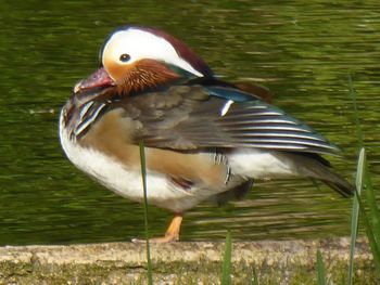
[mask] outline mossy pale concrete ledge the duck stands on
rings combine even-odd
[[[263,241],[232,244],[232,283],[315,284],[316,252],[329,277],[346,280],[350,239]],[[218,284],[223,242],[151,245],[155,284]],[[0,284],[145,284],[144,244],[0,247]],[[366,239],[356,246],[355,284],[376,284]],[[345,283],[345,282],[344,282]]]

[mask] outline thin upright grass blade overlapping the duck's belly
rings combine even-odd
[[[144,209],[144,229],[145,229],[145,242],[147,242],[147,262],[148,262],[148,284],[153,284],[153,270],[151,261],[151,248],[149,244],[149,229],[148,229],[148,195],[147,195],[147,164],[145,164],[145,150],[143,141],[139,143],[140,146],[140,163],[141,163],[141,178],[143,189],[143,209]]]

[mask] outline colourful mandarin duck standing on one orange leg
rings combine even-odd
[[[116,194],[174,212],[242,198],[256,180],[308,178],[343,197],[354,187],[321,155],[340,148],[268,103],[266,89],[220,80],[181,40],[152,27],[122,26],[100,50],[100,67],[74,86],[60,115],[67,158]]]

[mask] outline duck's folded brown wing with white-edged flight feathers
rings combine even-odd
[[[176,86],[131,98],[123,107],[137,121],[135,142],[143,139],[151,147],[339,151],[302,121],[235,88]]]

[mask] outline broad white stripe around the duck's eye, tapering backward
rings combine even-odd
[[[204,76],[180,57],[175,48],[166,39],[137,28],[116,31],[110,38],[104,46],[102,54],[104,67],[106,68],[105,62],[107,60],[121,63],[119,57],[123,54],[130,56],[130,60],[126,62],[128,64],[142,59],[151,59],[178,66],[199,77]]]

